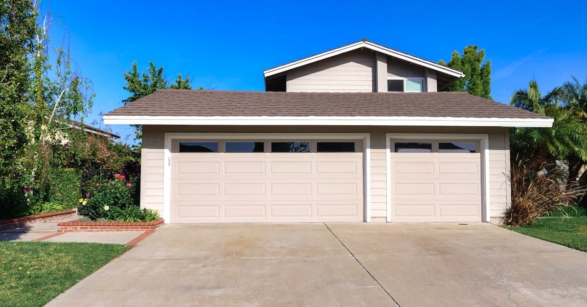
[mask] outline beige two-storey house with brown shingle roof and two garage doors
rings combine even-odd
[[[553,120],[441,92],[463,76],[363,40],[267,69],[265,92],[162,89],[104,122],[143,125],[141,206],[168,223],[497,223],[509,128]]]

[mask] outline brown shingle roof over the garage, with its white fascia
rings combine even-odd
[[[106,124],[551,126],[543,115],[466,92],[307,93],[158,89]]]

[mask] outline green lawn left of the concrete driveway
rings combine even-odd
[[[43,306],[129,247],[0,242],[0,306]]]

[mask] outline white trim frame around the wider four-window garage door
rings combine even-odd
[[[371,134],[369,133],[191,133],[166,132],[163,161],[163,219],[171,218],[171,140],[173,139],[362,139],[363,140],[363,221],[371,221]]]

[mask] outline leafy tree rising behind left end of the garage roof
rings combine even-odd
[[[129,98],[122,101],[125,105],[152,94],[157,89],[191,89],[190,77],[187,76],[183,79],[181,74],[177,74],[177,78],[173,84],[168,85],[167,78],[163,74],[163,66],[157,67],[153,62],[149,62],[147,72],[139,72],[137,69],[137,62],[134,61],[131,70],[124,72],[124,79],[126,80],[126,86],[123,86],[123,89],[126,89],[131,94]],[[131,126],[135,129],[135,139],[140,142],[143,138],[143,126]]]

